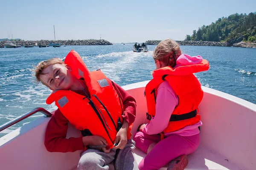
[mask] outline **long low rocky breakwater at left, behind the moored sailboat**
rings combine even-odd
[[[6,41],[0,41],[0,45],[4,45]],[[15,43],[16,45],[35,45],[36,43],[38,45],[48,45],[49,43],[61,43],[61,45],[113,45],[111,42],[107,40],[38,40],[38,41],[11,41],[12,43]]]

